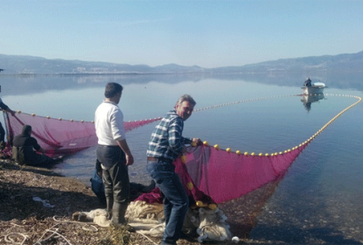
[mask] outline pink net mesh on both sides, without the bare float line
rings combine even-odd
[[[124,122],[126,132],[160,118]],[[16,113],[5,113],[10,140],[22,132],[25,124],[33,128],[32,136],[51,157],[67,155],[97,145],[93,122],[61,119]],[[175,171],[188,195],[197,206],[208,206],[239,198],[270,181],[279,180],[291,163],[307,146],[273,156],[252,156],[216,150],[208,145],[189,147],[188,152],[175,162]],[[147,193],[139,200],[161,202],[160,191]]]

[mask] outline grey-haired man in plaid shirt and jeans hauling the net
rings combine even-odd
[[[164,245],[176,244],[179,240],[189,209],[188,195],[172,162],[185,151],[185,144],[201,144],[198,138],[182,137],[184,121],[191,116],[195,104],[190,95],[182,95],[174,109],[155,127],[146,152],[146,169],[163,194],[165,230],[161,244]]]

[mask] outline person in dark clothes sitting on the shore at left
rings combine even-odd
[[[49,166],[60,160],[44,155],[44,149],[31,134],[32,126],[24,125],[22,133],[15,136],[13,140],[13,160],[15,162],[29,166]],[[41,154],[38,154],[34,150],[41,152]]]

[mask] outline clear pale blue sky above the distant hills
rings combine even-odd
[[[360,51],[362,0],[0,0],[0,54],[212,68]]]

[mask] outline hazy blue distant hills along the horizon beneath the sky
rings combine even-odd
[[[3,70],[4,71],[1,71]],[[258,64],[203,68],[197,65],[112,64],[103,62],[45,59],[42,57],[0,54],[0,72],[5,74],[154,74],[154,73],[301,73],[362,72],[363,51],[357,54],[311,56],[280,59]]]

